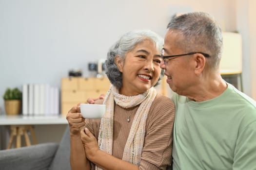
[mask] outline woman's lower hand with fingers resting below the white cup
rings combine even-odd
[[[80,131],[80,136],[82,139],[86,157],[90,161],[94,162],[93,160],[95,157],[97,157],[96,154],[99,151],[97,139],[87,128]]]

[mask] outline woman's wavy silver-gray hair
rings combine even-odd
[[[116,56],[119,55],[122,57],[122,60],[124,60],[127,52],[133,50],[136,45],[148,39],[155,43],[157,50],[160,52],[163,47],[163,38],[150,30],[128,32],[122,35],[120,39],[110,48],[105,65],[106,75],[108,76],[108,79],[112,85],[116,86],[118,89],[120,89],[122,86],[122,73],[119,71],[115,63]],[[162,69],[156,85],[159,84],[159,81],[162,79],[163,75],[164,70]]]

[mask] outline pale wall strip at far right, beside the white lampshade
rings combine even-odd
[[[256,1],[236,0],[236,26],[242,35],[243,46],[243,89],[256,100]]]

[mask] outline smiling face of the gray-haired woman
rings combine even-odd
[[[122,72],[120,94],[135,96],[154,86],[160,77],[160,51],[149,39],[139,43],[125,55],[124,61],[116,57],[116,64]]]

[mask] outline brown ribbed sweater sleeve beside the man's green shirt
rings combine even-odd
[[[157,96],[147,119],[140,170],[165,170],[171,164],[174,119],[174,102]]]

